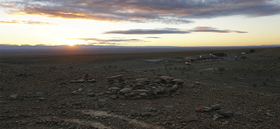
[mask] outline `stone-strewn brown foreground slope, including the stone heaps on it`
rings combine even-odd
[[[1,64],[0,79],[1,128],[280,128],[276,93],[113,69]]]

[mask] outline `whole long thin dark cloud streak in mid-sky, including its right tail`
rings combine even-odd
[[[216,32],[216,33],[229,33],[229,32],[236,32],[236,33],[247,33],[242,31],[233,31],[233,30],[220,30],[218,28],[212,28],[208,26],[197,26],[193,29],[177,29],[177,28],[157,28],[157,29],[129,29],[129,30],[114,30],[114,31],[107,31],[103,32],[103,34],[138,34],[138,35],[145,35],[145,34],[188,34],[191,32]],[[158,38],[158,37],[146,37],[146,38]]]

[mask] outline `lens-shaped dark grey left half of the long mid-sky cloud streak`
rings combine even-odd
[[[191,33],[187,30],[176,28],[158,28],[158,29],[130,29],[130,30],[114,30],[103,32],[103,34],[130,34],[130,35],[145,35],[145,34],[187,34]]]

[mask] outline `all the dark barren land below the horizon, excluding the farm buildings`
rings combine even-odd
[[[280,48],[254,50],[1,50],[0,127],[277,129]]]

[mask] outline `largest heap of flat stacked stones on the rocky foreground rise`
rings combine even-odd
[[[108,79],[107,93],[116,99],[155,99],[180,94],[177,90],[183,87],[183,81],[169,76],[161,76],[160,80],[150,81],[146,78],[135,81],[125,81],[124,75],[106,77]],[[133,79],[133,78],[129,78]],[[166,89],[168,88],[168,89]]]

